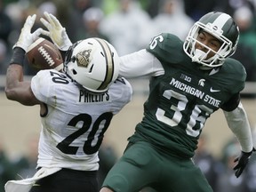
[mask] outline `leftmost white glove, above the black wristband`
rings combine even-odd
[[[33,27],[36,20],[36,14],[33,16],[29,15],[27,20],[24,23],[23,28],[20,32],[20,37],[16,44],[12,47],[14,49],[15,47],[20,47],[25,52],[28,51],[28,47],[30,44],[34,43],[34,41],[40,36],[42,32],[42,28],[37,28],[34,33],[31,34],[31,28]]]

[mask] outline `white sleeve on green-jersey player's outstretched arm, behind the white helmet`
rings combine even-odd
[[[160,76],[164,68],[153,54],[143,49],[121,57],[119,74],[126,78]]]

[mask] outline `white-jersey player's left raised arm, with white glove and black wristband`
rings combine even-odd
[[[40,101],[36,100],[31,91],[30,82],[23,81],[23,60],[28,47],[40,35],[41,28],[31,33],[36,20],[36,15],[28,16],[20,32],[19,40],[13,46],[12,59],[6,72],[5,94],[9,100],[16,100],[23,105],[36,105]]]

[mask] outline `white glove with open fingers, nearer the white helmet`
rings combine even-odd
[[[44,36],[50,36],[52,42],[56,44],[61,51],[68,51],[68,48],[72,45],[72,43],[68,38],[66,28],[63,28],[60,21],[57,20],[57,18],[52,14],[44,12],[44,16],[46,20],[44,20],[44,18],[41,18],[40,20],[48,31],[43,30],[42,34]]]

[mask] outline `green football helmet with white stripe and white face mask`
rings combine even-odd
[[[220,40],[219,51],[214,52],[210,47],[196,40],[201,30]],[[183,50],[192,61],[202,64],[203,68],[215,68],[221,66],[228,56],[234,54],[238,39],[239,28],[232,17],[223,12],[209,12],[192,26],[183,44]],[[195,48],[196,43],[206,47],[208,52],[197,50]],[[209,52],[214,52],[215,54],[206,60]]]

